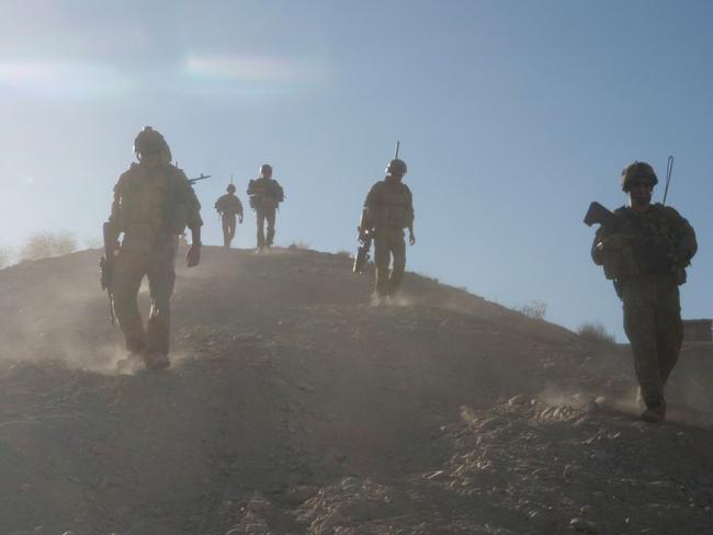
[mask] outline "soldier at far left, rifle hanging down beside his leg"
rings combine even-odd
[[[188,178],[171,164],[163,136],[150,126],[134,141],[138,163],[132,163],[114,187],[114,202],[104,224],[110,291],[129,360],[140,358],[149,369],[170,366],[170,297],[176,281],[178,237],[191,229],[185,255],[189,268],[201,261],[201,205]],[[118,237],[123,234],[121,247]],[[144,328],[136,296],[148,277],[151,309]]]

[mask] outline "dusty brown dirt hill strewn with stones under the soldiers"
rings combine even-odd
[[[173,366],[117,375],[98,251],[0,271],[0,534],[713,533],[713,350],[626,349],[342,255],[205,248]],[[143,295],[146,301],[146,295]]]

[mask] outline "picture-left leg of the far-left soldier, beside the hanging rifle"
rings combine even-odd
[[[120,251],[112,282],[114,312],[124,333],[126,349],[136,354],[143,353],[146,349],[144,322],[136,300],[145,273],[142,255],[125,250]]]

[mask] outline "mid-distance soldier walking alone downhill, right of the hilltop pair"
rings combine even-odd
[[[386,168],[386,178],[376,182],[364,201],[360,235],[372,231],[374,236],[374,263],[376,264],[376,300],[395,296],[404,278],[406,268],[406,242],[404,229],[408,228],[408,240],[416,243],[414,236],[414,202],[411,191],[401,182],[406,174],[406,162],[392,160]],[[388,272],[391,257],[394,266]]]

